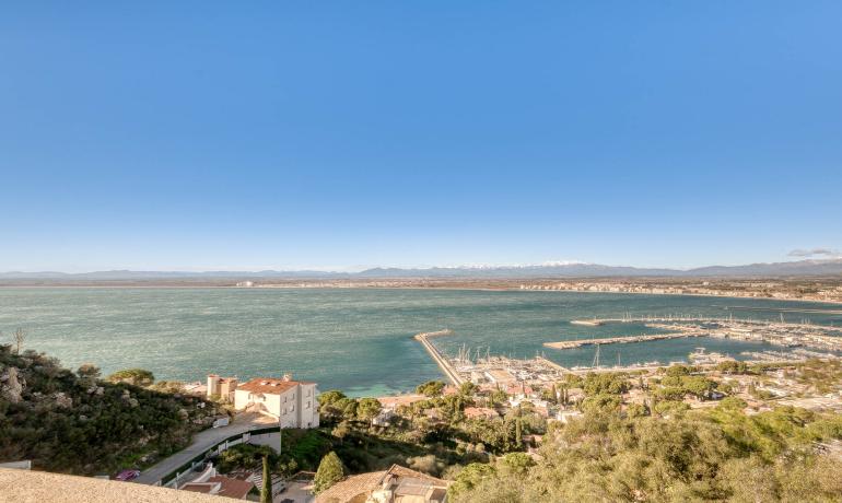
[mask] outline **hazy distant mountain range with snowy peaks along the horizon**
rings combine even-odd
[[[790,262],[750,264],[747,266],[710,266],[695,269],[650,269],[598,264],[550,264],[539,266],[433,267],[428,269],[374,268],[360,272],[330,271],[97,271],[97,272],[0,272],[0,280],[178,280],[178,279],[397,279],[397,278],[609,278],[609,277],[787,277],[842,274],[842,259],[798,260]]]

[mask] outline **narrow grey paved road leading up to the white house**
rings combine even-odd
[[[230,436],[245,433],[257,428],[272,426],[276,424],[277,422],[271,418],[256,412],[238,414],[227,426],[211,428],[197,433],[194,435],[190,445],[168,458],[161,460],[156,465],[147,468],[140,473],[140,477],[133,480],[133,482],[155,483],[167,473]]]

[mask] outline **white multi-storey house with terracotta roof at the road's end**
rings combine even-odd
[[[282,428],[317,428],[316,383],[257,377],[237,386],[234,408],[255,410],[280,420]]]

